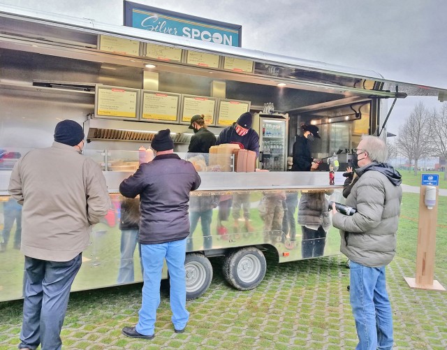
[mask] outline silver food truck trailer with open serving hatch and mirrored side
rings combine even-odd
[[[447,96],[445,89],[386,80],[374,71],[2,5],[0,59],[0,301],[22,298],[24,279],[20,206],[7,191],[11,170],[29,150],[49,147],[63,119],[83,125],[84,154],[103,169],[112,202],[91,229],[72,290],[142,281],[138,249],[130,257],[120,251],[119,184],[147,161],[156,132],[169,128],[175,152],[199,167],[202,184],[191,200],[214,203],[210,221],[196,218],[187,239],[192,299],[210,286],[212,257],[223,256],[223,275],[240,290],[261,283],[267,250],[280,263],[309,257],[302,254],[300,226],[292,234],[279,224],[284,207],[270,213],[272,222],[263,220],[271,209],[266,198],[284,203],[288,196],[325,194],[342,200],[342,173],[330,185],[325,163],[312,173],[286,171],[302,123],[320,130],[313,156],[341,150],[343,170],[363,134],[379,135],[388,99]],[[231,152],[187,154],[193,115],[205,115],[208,129],[219,135],[247,111],[260,135],[256,168],[263,171],[235,171]],[[240,196],[248,198],[245,211],[231,206]],[[324,252],[315,256],[333,254],[339,254],[339,235],[332,229]],[[131,277],[119,279],[121,269]]]

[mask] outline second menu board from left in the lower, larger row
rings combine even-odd
[[[141,120],[177,122],[179,94],[142,90]]]

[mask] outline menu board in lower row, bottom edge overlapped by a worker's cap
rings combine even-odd
[[[204,115],[205,124],[214,124],[217,99],[205,96],[183,96],[181,122],[189,123],[193,115]]]

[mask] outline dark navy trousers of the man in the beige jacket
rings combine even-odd
[[[58,350],[71,284],[78,273],[82,254],[71,261],[45,261],[25,256],[23,324],[19,349]]]

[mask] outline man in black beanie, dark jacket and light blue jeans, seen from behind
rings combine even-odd
[[[186,310],[184,260],[189,235],[189,191],[197,189],[200,177],[192,163],[174,154],[170,130],[161,130],[152,140],[156,157],[142,163],[119,185],[128,198],[140,195],[140,236],[144,284],[142,305],[135,327],[124,327],[127,337],[154,338],[156,309],[160,304],[160,282],[166,258],[170,277],[170,308],[175,333],[182,333],[189,319]]]

